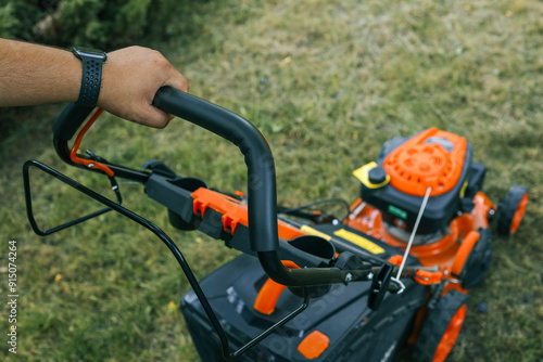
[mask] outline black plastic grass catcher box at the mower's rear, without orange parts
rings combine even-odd
[[[201,281],[235,347],[247,342],[302,301],[301,297],[286,289],[270,315],[255,311],[252,306],[266,280],[257,260],[242,255]],[[411,332],[416,311],[425,303],[427,289],[411,280],[406,281],[403,294],[388,294],[382,307],[372,311],[367,307],[370,284],[332,285],[324,296],[312,299],[303,314],[248,351],[239,361],[307,361],[298,346],[313,331],[319,331],[330,340],[328,348],[312,361],[381,361],[386,355],[392,360]],[[218,338],[192,290],[181,298],[180,308],[202,361],[225,361]]]

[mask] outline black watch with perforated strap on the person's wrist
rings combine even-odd
[[[89,48],[73,48],[72,53],[83,62],[81,89],[76,104],[94,107],[100,95],[102,64],[105,63],[108,55],[100,50]]]

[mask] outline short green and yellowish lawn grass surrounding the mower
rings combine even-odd
[[[372,160],[384,141],[433,126],[468,139],[475,159],[489,168],[484,192],[493,201],[503,199],[514,183],[529,186],[517,235],[494,234],[492,269],[470,293],[450,361],[543,360],[542,3],[223,0],[195,4],[176,22],[168,25],[175,36],[152,46],[187,76],[193,94],[242,115],[266,134],[280,204],[354,201],[358,184],[352,170]],[[113,214],[45,238],[31,232],[24,160],[39,159],[108,190],[97,174],[55,156],[50,126],[60,109],[10,117],[21,126],[2,134],[0,290],[5,299],[8,241],[16,240],[16,358],[198,361],[178,311],[189,285],[150,232]],[[214,188],[245,190],[241,154],[179,119],[151,130],[103,116],[85,147],[131,167],[159,158]],[[43,227],[97,208],[52,179],[33,180]],[[162,227],[198,277],[236,255],[220,242],[174,230],[166,210],[141,186],[121,188],[124,204]],[[487,313],[475,307],[481,302]],[[3,308],[0,331],[7,328]],[[8,354],[3,342],[0,355]]]

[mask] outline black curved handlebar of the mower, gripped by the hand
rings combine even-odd
[[[248,168],[248,221],[251,249],[269,277],[289,286],[323,285],[367,281],[368,270],[339,268],[286,268],[279,249],[277,225],[277,191],[275,163],[269,144],[262,132],[247,119],[198,96],[174,89],[161,88],[153,105],[168,114],[200,126],[239,147]],[[53,144],[64,161],[70,158],[67,142],[90,115],[92,108],[70,104],[53,125]],[[109,164],[116,176],[146,182],[149,173]],[[80,166],[79,166],[80,167]]]

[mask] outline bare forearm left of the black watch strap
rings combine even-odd
[[[0,106],[75,102],[81,72],[68,51],[0,39]]]

